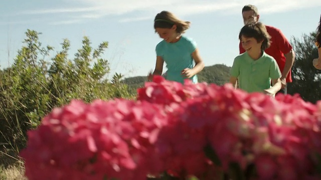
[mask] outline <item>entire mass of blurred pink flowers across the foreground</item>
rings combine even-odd
[[[321,179],[321,101],[161,76],[137,91],[54,109],[28,133],[29,179]]]

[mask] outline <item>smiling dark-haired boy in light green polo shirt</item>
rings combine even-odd
[[[281,89],[281,72],[275,59],[264,52],[270,46],[270,35],[261,22],[249,22],[239,33],[244,53],[235,57],[230,82],[247,92],[263,92],[274,96]],[[272,80],[272,86],[271,86]]]

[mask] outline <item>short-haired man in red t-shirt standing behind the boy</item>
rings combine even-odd
[[[249,20],[257,22],[260,18],[259,12],[255,5],[245,5],[242,8],[242,15],[244,24],[246,24]],[[294,51],[292,46],[281,32],[280,29],[275,28],[270,25],[265,25],[267,32],[271,36],[271,45],[269,48],[265,49],[265,52],[276,60],[282,76],[280,80],[282,82],[282,88],[278,93],[287,93],[287,86],[286,83],[292,82],[291,77],[291,68],[294,62]],[[242,47],[242,43],[240,41],[239,44],[240,53],[245,52],[245,49]]]

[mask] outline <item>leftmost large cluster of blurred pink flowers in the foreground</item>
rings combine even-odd
[[[30,179],[145,179],[161,171],[152,145],[167,116],[157,104],[117,99],[55,108],[28,132]]]

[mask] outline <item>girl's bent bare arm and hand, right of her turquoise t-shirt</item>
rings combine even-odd
[[[182,74],[184,74],[187,78],[193,77],[193,75],[195,75],[195,74],[199,73],[200,71],[202,71],[204,66],[205,66],[204,62],[203,62],[203,60],[201,58],[201,55],[199,53],[198,48],[196,48],[194,50],[194,52],[192,53],[192,57],[193,57],[193,59],[195,61],[195,66],[192,69],[185,68],[185,69],[182,70]]]

